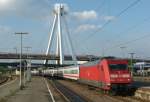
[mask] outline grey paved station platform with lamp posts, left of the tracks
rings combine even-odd
[[[7,102],[52,102],[45,80],[34,77],[26,88],[10,96]]]

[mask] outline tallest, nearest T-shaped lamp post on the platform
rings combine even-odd
[[[26,35],[28,33],[26,32],[16,32],[15,34],[20,35],[20,89],[22,90],[24,88],[24,85],[22,84],[22,35]]]

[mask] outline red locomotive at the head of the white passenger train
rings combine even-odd
[[[132,82],[128,61],[103,59],[80,66],[79,81],[106,91],[125,90]]]

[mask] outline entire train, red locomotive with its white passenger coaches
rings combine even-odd
[[[132,83],[128,61],[124,59],[100,59],[82,65],[47,69],[43,73],[51,77],[75,80],[115,94],[129,90]]]

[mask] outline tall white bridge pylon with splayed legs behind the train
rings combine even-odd
[[[56,64],[63,64],[64,63],[64,52],[63,52],[63,39],[62,39],[62,20],[65,20],[65,15],[67,14],[67,12],[65,11],[65,4],[56,4],[54,7],[54,20],[53,20],[53,24],[52,24],[52,29],[50,32],[50,36],[49,36],[49,41],[48,41],[48,47],[46,50],[46,55],[51,54],[50,53],[50,49],[52,48],[52,41],[54,39],[54,34],[56,34],[56,56],[59,56],[59,61],[56,61]],[[67,26],[67,24],[66,24]],[[67,27],[66,27],[67,28]],[[57,32],[55,32],[57,31]],[[54,33],[55,32],[55,33]],[[67,39],[68,39],[68,45],[71,48],[71,56],[72,59],[77,63],[76,57],[74,56],[74,51],[73,51],[73,47],[72,47],[72,42],[71,42],[71,38],[69,35],[69,31],[67,31]],[[46,59],[44,61],[44,64],[47,64],[48,60]]]

